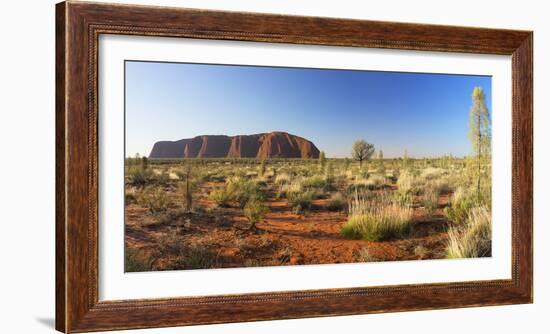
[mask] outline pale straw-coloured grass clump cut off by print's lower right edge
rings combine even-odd
[[[485,206],[473,208],[465,226],[451,227],[448,258],[491,256],[491,212]]]

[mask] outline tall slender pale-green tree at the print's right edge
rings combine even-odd
[[[480,192],[481,163],[491,152],[491,127],[489,110],[485,103],[485,93],[481,87],[475,87],[472,92],[472,107],[468,135],[477,160],[477,191]]]

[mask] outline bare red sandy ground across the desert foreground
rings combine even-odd
[[[440,206],[448,205],[448,201],[449,196],[442,195]],[[199,204],[213,207],[205,199]],[[365,258],[361,250],[365,248],[369,261],[434,259],[445,255],[447,222],[441,208],[431,215],[421,207],[414,208],[411,233],[405,239],[369,242],[341,236],[347,215],[329,212],[323,208],[325,204],[326,200],[316,200],[310,212],[298,215],[285,200],[271,199],[270,212],[256,231],[249,230],[238,208],[199,211],[159,223],[147,209],[130,204],[126,207],[126,246],[156,257],[153,270],[188,268],[181,261],[175,262],[174,251],[171,255],[159,255],[167,236],[183,248],[176,250],[183,257],[190,252],[186,246],[198,244],[214,258],[213,267],[223,268],[362,262]]]

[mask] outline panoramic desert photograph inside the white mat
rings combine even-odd
[[[124,77],[125,272],[491,257],[491,76]]]

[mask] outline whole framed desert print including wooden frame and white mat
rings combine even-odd
[[[56,10],[59,331],[532,302],[532,32]]]

